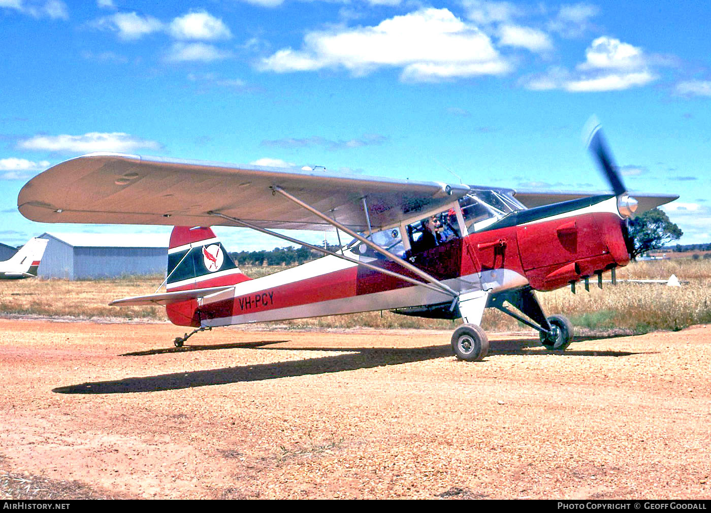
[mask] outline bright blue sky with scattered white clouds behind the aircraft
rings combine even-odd
[[[595,114],[628,188],[679,194],[680,242],[707,243],[710,18],[672,1],[0,0],[0,241],[169,233],[18,213],[31,176],[94,151],[606,189],[581,138]],[[287,244],[215,231],[230,250]]]

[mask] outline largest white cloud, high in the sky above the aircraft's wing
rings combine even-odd
[[[421,9],[377,26],[311,31],[301,50],[284,48],[260,63],[277,73],[338,67],[355,76],[402,68],[402,80],[416,81],[510,71],[491,39],[448,9]]]

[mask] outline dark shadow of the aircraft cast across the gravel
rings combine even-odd
[[[294,376],[309,376],[314,374],[328,374],[332,372],[354,371],[358,369],[371,369],[386,365],[407,364],[415,361],[451,356],[449,344],[442,346],[429,346],[402,349],[378,348],[336,348],[336,347],[267,347],[282,341],[247,342],[240,344],[220,344],[219,346],[198,346],[196,351],[206,349],[226,349],[226,347],[250,347],[262,350],[283,351],[348,351],[346,354],[333,356],[320,356],[296,361],[278,361],[271,364],[245,365],[225,367],[223,369],[209,369],[203,371],[176,372],[173,374],[159,374],[157,376],[144,376],[138,378],[125,378],[115,381],[95,381],[70,386],[54,388],[56,393],[134,393],[178,390],[196,386],[223,385],[248,381],[264,381]],[[514,347],[512,347],[514,346]],[[510,341],[493,340],[490,342],[489,354],[560,354],[561,356],[629,356],[628,351],[530,351],[539,347],[537,339]],[[178,348],[176,348],[178,349]],[[183,350],[185,348],[182,348]],[[159,350],[156,350],[159,351]],[[173,351],[159,351],[173,352]],[[130,354],[130,353],[129,353]],[[155,352],[139,351],[137,355],[156,354]],[[486,361],[486,360],[485,360]],[[453,362],[453,364],[455,364]],[[478,365],[466,364],[463,365]]]

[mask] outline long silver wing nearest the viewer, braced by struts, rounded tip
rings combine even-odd
[[[95,153],[70,159],[28,181],[18,209],[43,223],[239,226],[332,230],[313,213],[274,194],[289,191],[353,231],[396,226],[464,196],[469,186],[331,172]]]

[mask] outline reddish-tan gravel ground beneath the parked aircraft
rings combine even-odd
[[[711,327],[490,334],[0,319],[5,497],[711,497]]]

